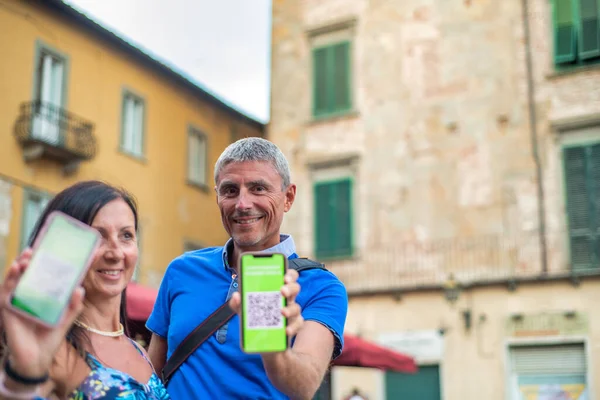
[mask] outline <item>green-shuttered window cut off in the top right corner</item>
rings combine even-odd
[[[554,0],[554,62],[600,62],[600,0]]]

